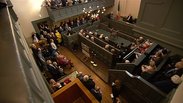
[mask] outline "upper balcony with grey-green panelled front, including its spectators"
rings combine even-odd
[[[90,10],[96,13],[98,10],[113,5],[114,0],[45,0],[43,4],[43,6],[46,6],[50,19],[55,22],[81,15]]]

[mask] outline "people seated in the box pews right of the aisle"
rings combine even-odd
[[[109,42],[108,36],[104,36],[104,34],[98,34],[98,32],[91,32],[89,30],[81,29],[79,32],[79,35],[85,36],[87,39],[90,39],[92,42],[95,42],[95,37],[105,41]],[[144,39],[143,37],[139,37],[134,42],[128,47],[128,48],[123,48],[123,50],[126,50],[126,53],[129,53],[131,50],[136,48],[136,51],[134,52],[134,59],[137,59],[141,54],[146,54],[146,50],[153,44],[153,42],[149,39]],[[104,45],[104,48],[106,50],[109,50],[112,53],[115,53],[115,49],[110,48],[110,44]],[[109,49],[110,48],[110,49]],[[119,49],[119,48],[118,48]],[[124,51],[123,51],[124,52]],[[164,57],[168,55],[169,50],[166,48],[159,48],[153,51],[153,53],[150,54],[149,60],[146,61],[147,64],[142,64],[141,65],[141,73],[149,73],[150,75],[157,72],[157,67],[158,65],[162,62]],[[122,53],[121,57],[124,57],[126,54]],[[118,55],[119,56],[119,55]],[[133,60],[130,61],[125,61],[126,63],[132,62]],[[168,93],[172,88],[175,88],[178,84],[180,84],[181,79],[180,76],[182,75],[183,71],[183,62],[178,61],[175,63],[175,65],[172,66],[173,69],[167,69],[169,72],[168,74],[173,73],[167,77],[167,75],[163,77],[167,77],[166,79],[158,79],[156,82],[152,82],[155,86],[160,88],[163,92]],[[167,73],[165,73],[167,74]],[[141,75],[141,74],[140,74]],[[164,87],[166,86],[166,88]]]

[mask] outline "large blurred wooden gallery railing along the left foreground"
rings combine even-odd
[[[1,85],[0,100],[18,103],[53,103],[48,88],[33,59],[12,6],[0,10]],[[18,94],[17,94],[18,93]]]

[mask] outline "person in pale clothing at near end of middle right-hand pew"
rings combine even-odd
[[[142,69],[142,73],[147,72],[149,74],[152,74],[156,71],[155,62],[153,60],[150,60],[149,65],[142,65],[141,69]]]

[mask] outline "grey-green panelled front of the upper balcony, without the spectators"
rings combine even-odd
[[[92,11],[102,9],[102,7],[111,7],[114,5],[114,0],[92,0],[87,3],[76,4],[73,6],[61,7],[58,9],[51,9],[47,7],[47,12],[51,20],[57,22],[68,17],[83,14],[83,8],[91,6]],[[97,8],[97,6],[99,6]]]

